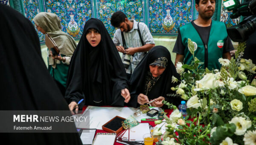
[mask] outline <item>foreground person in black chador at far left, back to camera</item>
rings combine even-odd
[[[0,110],[67,110],[65,115],[71,116],[44,64],[35,27],[22,14],[2,4],[0,20]],[[1,116],[5,122],[1,125],[11,125],[13,120],[8,119]],[[63,128],[76,132],[73,122],[67,124]],[[78,133],[1,133],[0,136],[8,145],[82,145]]]

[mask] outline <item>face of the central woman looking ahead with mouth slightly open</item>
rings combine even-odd
[[[99,44],[101,35],[98,30],[91,28],[87,30],[86,39],[91,46],[95,47]]]

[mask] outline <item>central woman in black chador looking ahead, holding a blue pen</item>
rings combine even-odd
[[[124,106],[130,100],[127,88],[125,68],[107,29],[99,19],[88,20],[70,62],[65,94],[70,110],[81,99],[79,108]]]

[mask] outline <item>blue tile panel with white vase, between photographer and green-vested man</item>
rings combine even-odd
[[[177,34],[192,21],[194,0],[148,0],[148,26],[152,34]]]

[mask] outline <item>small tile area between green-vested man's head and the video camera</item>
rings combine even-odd
[[[239,23],[240,17],[236,18],[236,19],[231,19],[230,18],[230,14],[232,14],[232,12],[227,11],[226,7],[223,6],[223,3],[227,1],[227,0],[222,0],[221,2],[221,22],[224,22],[226,24],[227,27],[236,25]],[[241,0],[240,0],[241,3]]]

